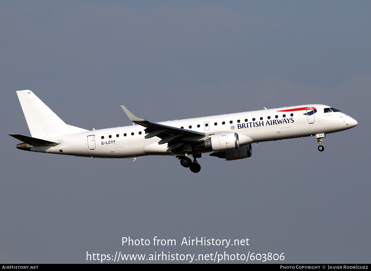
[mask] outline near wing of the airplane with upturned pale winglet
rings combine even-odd
[[[200,133],[192,130],[185,130],[177,127],[171,127],[159,123],[152,123],[151,121],[135,117],[124,105],[121,108],[128,115],[131,122],[146,127],[144,131],[148,134],[144,138],[159,137],[158,144],[168,143],[167,152],[176,153],[181,151],[184,145],[200,140],[205,137],[205,133]]]

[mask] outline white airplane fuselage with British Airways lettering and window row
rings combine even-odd
[[[315,108],[315,112],[306,115],[311,108]],[[301,105],[164,121],[159,124],[205,133],[205,139],[221,132],[238,133],[240,146],[253,142],[335,133],[357,125],[357,121],[348,115],[342,112],[325,113],[324,108],[329,106]],[[158,137],[144,138],[144,129],[141,125],[129,125],[47,137],[43,139],[60,141],[60,144],[52,147],[33,146],[31,151],[104,158],[170,155],[166,152],[168,144],[158,144]]]

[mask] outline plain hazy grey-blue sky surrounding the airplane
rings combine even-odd
[[[86,251],[370,262],[370,12],[370,1],[1,1],[0,262],[86,263]],[[85,129],[131,125],[120,104],[165,121],[319,103],[358,126],[329,134],[323,153],[315,138],[260,143],[249,159],[203,155],[194,174],[174,157],[17,150],[7,134],[30,135],[20,89]],[[127,236],[177,245],[122,246]]]

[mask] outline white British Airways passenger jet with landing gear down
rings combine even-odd
[[[252,143],[315,136],[319,151],[326,134],[358,122],[328,105],[310,104],[153,123],[121,105],[133,125],[85,130],[66,124],[30,90],[16,91],[31,137],[17,148],[40,153],[100,158],[175,156],[183,167],[200,172],[203,153],[225,160],[251,157]],[[137,124],[137,125],[135,125]],[[193,156],[193,161],[190,156]]]

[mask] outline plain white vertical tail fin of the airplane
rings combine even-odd
[[[88,130],[66,124],[30,90],[17,91],[32,137],[44,138]]]

